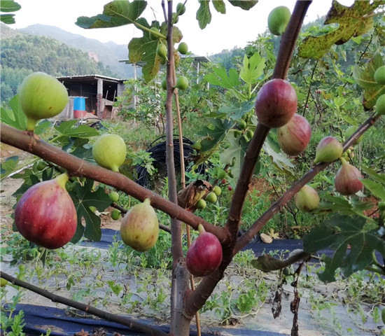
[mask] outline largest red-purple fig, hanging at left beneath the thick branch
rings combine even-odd
[[[31,186],[15,209],[15,225],[25,239],[45,248],[59,248],[75,235],[78,217],[66,191],[67,174]]]

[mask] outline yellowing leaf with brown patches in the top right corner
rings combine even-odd
[[[373,27],[372,13],[384,1],[354,1],[351,7],[332,1],[325,25],[337,23],[337,29],[321,36],[307,36],[300,43],[298,55],[319,59],[333,44],[343,44],[353,36],[365,34]]]

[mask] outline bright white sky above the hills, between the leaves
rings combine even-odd
[[[83,29],[75,25],[79,16],[94,16],[103,12],[104,4],[109,0],[15,0],[22,6],[15,12],[15,25],[11,28],[24,28],[29,25],[51,25],[87,38],[95,38],[102,42],[113,41],[127,44],[132,37],[140,37],[141,31],[134,25],[106,29]],[[148,6],[143,15],[148,22],[162,20],[161,0],[148,0]],[[182,0],[174,0],[176,3]],[[352,0],[340,0],[345,6],[350,6]],[[316,20],[328,13],[332,0],[314,0],[307,12],[304,23]],[[209,56],[225,49],[244,48],[248,42],[254,41],[258,34],[267,29],[267,16],[276,6],[287,6],[293,11],[295,0],[259,0],[251,10],[241,10],[226,4],[226,14],[216,12],[211,6],[211,23],[203,30],[198,26],[195,14],[199,3],[188,0],[186,13],[176,24],[183,33],[183,40],[188,43],[189,50],[195,55]]]

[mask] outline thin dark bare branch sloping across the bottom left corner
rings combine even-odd
[[[52,302],[62,303],[62,304],[65,304],[66,306],[73,307],[81,311],[85,311],[87,314],[92,314],[94,316],[104,318],[106,321],[119,323],[121,325],[126,325],[127,327],[130,327],[132,330],[144,332],[146,335],[169,336],[167,332],[163,332],[162,330],[153,328],[151,327],[151,325],[140,323],[136,319],[125,317],[125,316],[118,316],[116,314],[111,314],[107,311],[103,311],[102,309],[97,309],[88,304],[83,304],[81,302],[73,301],[73,300],[67,299],[66,297],[62,297],[60,295],[50,293],[48,290],[38,288],[32,285],[31,283],[19,280],[13,276],[10,276],[7,273],[0,271],[0,276],[1,278],[6,279],[7,281],[10,281],[10,283],[13,283],[14,285],[20,286],[22,288],[26,288],[27,290],[31,290],[32,292],[38,295],[48,298]]]

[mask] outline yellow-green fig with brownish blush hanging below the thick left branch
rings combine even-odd
[[[148,251],[158,241],[159,223],[150,199],[134,205],[123,217],[120,236],[123,242],[139,252]]]

